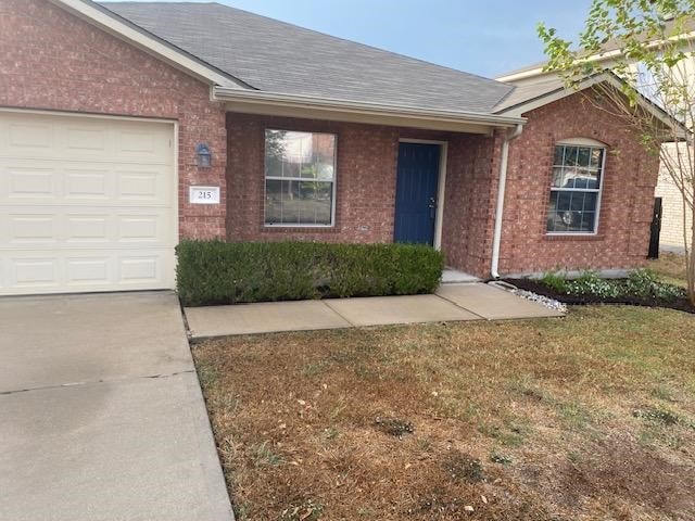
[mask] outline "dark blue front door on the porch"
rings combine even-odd
[[[395,242],[433,243],[439,157],[439,144],[399,145],[393,232]]]

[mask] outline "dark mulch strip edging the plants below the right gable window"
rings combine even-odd
[[[665,307],[667,309],[675,309],[679,312],[695,314],[695,306],[686,297],[679,297],[674,300],[644,297],[644,296],[617,296],[617,297],[601,297],[596,295],[568,295],[567,293],[560,293],[558,291],[548,288],[539,280],[534,279],[503,279],[505,282],[516,285],[517,288],[526,291],[538,293],[539,295],[554,298],[564,304],[570,305],[585,305],[585,304],[622,304],[629,306],[644,306],[644,307]]]

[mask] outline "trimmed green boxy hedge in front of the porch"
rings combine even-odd
[[[444,267],[412,244],[184,241],[176,254],[186,306],[431,293]]]

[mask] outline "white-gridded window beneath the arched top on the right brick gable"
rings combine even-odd
[[[595,233],[606,149],[557,144],[547,214],[548,233]]]

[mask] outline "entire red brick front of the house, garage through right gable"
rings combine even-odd
[[[378,124],[321,119],[308,112],[301,117],[238,112],[214,99],[211,82],[46,0],[0,0],[0,107],[176,123],[180,239],[391,242],[400,140],[445,142],[441,249],[450,266],[490,276],[501,149],[510,124],[486,132],[455,131],[388,118]],[[522,114],[523,131],[509,149],[502,274],[627,269],[645,260],[658,161],[581,96]],[[264,226],[266,128],[337,135],[332,227]],[[567,138],[591,138],[607,148],[596,234],[545,231],[553,148]],[[213,151],[210,168],[197,166],[201,142]],[[199,185],[219,187],[220,204],[191,204],[189,188]]]

